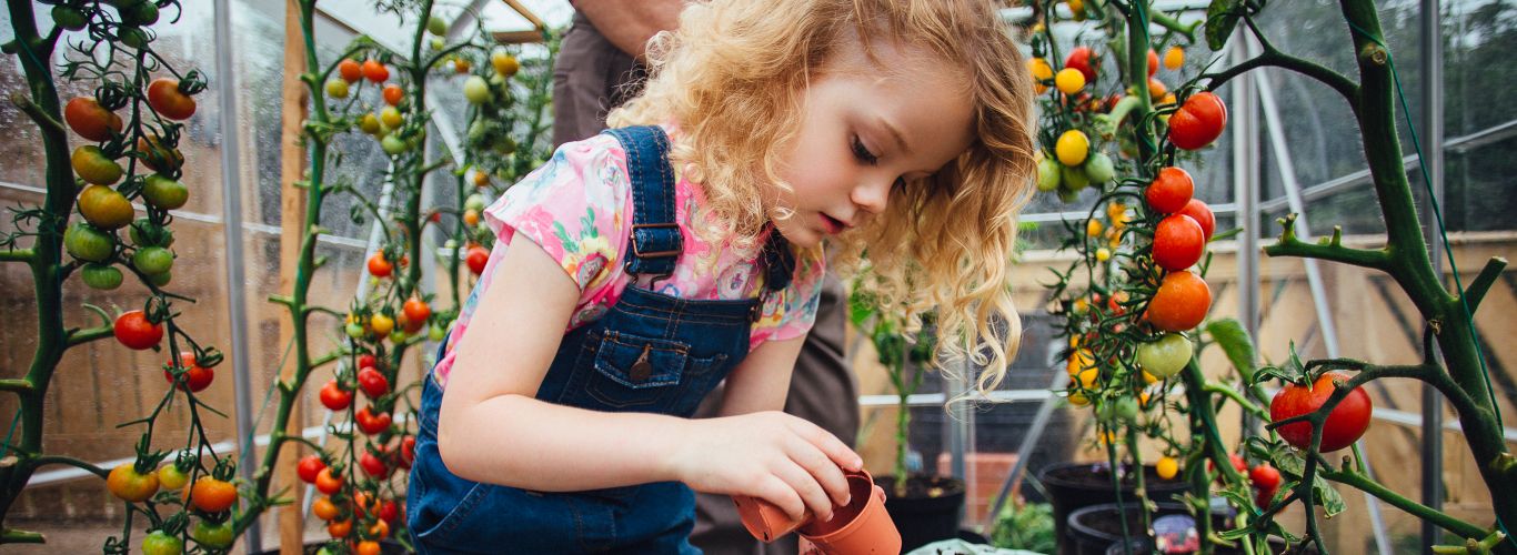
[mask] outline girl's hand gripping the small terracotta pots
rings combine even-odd
[[[831,520],[833,503],[850,499],[843,469],[863,467],[833,434],[778,411],[689,420],[687,431],[669,458],[677,479],[696,491],[762,497],[796,520],[806,510]]]

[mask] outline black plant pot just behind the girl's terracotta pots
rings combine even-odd
[[[875,484],[884,488],[884,510],[901,531],[901,552],[933,541],[959,537],[959,513],[963,508],[963,481],[948,476],[912,476],[907,494],[895,496],[895,476],[875,476]],[[925,491],[939,490],[938,496]]]

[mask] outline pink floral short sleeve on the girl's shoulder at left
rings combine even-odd
[[[484,212],[499,244],[537,243],[592,299],[614,282],[631,226],[627,153],[610,135],[567,143]]]

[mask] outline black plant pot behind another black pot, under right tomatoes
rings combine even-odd
[[[1062,462],[1044,467],[1038,473],[1038,481],[1048,491],[1048,503],[1053,505],[1054,537],[1059,541],[1059,553],[1073,553],[1068,537],[1068,519],[1074,511],[1101,503],[1115,503],[1117,493],[1112,490],[1112,476],[1106,464]],[[1177,479],[1161,479],[1153,466],[1144,467],[1144,485],[1148,499],[1165,502],[1183,494],[1189,484]],[[1138,496],[1132,484],[1123,484],[1123,500],[1136,502]],[[1104,552],[1104,544],[1101,546]]]

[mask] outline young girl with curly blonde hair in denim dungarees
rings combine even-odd
[[[422,394],[423,553],[696,552],[692,490],[830,519],[862,459],[778,412],[824,243],[936,309],[981,387],[1015,349],[1032,86],[991,0],[693,3],[648,58],[620,129],[485,211],[499,241]],[[686,419],[724,379],[724,415]]]

